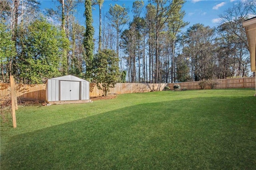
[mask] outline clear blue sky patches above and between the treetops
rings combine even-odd
[[[41,10],[44,8],[54,8],[56,5],[59,5],[58,2],[54,2],[52,0],[40,0],[41,2]],[[126,7],[132,10],[132,2],[134,0],[105,0],[102,6],[102,17],[109,10],[110,4],[125,4]],[[190,24],[186,27],[190,27],[196,23],[202,23],[205,26],[209,25],[210,27],[214,27],[218,25],[219,15],[223,14],[224,10],[228,8],[232,8],[233,4],[239,2],[238,0],[187,0],[184,4],[183,10],[186,12],[186,16],[184,17],[184,21],[190,22]],[[145,5],[148,4],[148,0],[144,1]],[[94,28],[95,32],[99,27],[99,12],[98,6],[94,7],[92,12],[94,19]],[[76,18],[81,25],[85,25],[84,14],[84,4],[80,4],[77,8]],[[132,12],[129,13],[130,20],[132,20]]]

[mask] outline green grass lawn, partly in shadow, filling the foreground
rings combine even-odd
[[[1,170],[255,169],[255,90],[122,94],[20,107],[1,123]]]

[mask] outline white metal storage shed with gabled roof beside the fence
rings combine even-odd
[[[89,93],[89,82],[76,76],[62,76],[50,78],[46,81],[46,102],[48,103],[58,104],[57,102],[60,101],[70,101],[69,103],[72,103],[72,101],[86,102],[90,100]]]

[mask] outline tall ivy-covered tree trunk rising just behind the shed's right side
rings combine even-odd
[[[94,27],[92,26],[92,2],[91,0],[85,0],[85,12],[86,21],[86,31],[84,34],[84,48],[86,57],[86,78],[92,77],[92,59],[94,50]]]

